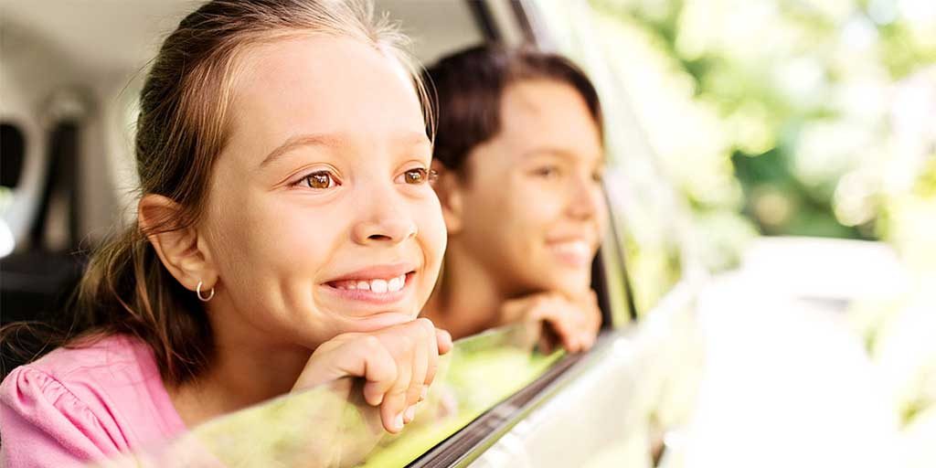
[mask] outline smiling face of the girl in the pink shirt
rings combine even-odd
[[[215,321],[314,348],[416,318],[446,230],[409,76],[347,38],[276,41],[241,66],[202,225]]]

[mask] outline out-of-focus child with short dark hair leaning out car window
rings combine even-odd
[[[592,261],[607,226],[591,80],[561,55],[497,45],[426,73],[444,110],[433,164],[448,249],[425,313],[456,338],[542,321],[567,351],[589,349],[601,325]]]

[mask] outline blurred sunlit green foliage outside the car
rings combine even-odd
[[[899,249],[929,234],[914,219],[936,203],[936,124],[921,122],[936,122],[936,2],[590,4],[698,219]]]

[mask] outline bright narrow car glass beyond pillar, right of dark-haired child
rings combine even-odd
[[[530,5],[536,7],[538,34],[582,66],[601,96],[608,164],[605,185],[615,240],[626,262],[636,312],[646,314],[682,278],[683,208],[642,133],[631,99],[618,80],[619,70],[610,65],[620,61],[613,50],[598,47],[601,41],[588,5]]]

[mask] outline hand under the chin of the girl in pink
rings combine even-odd
[[[362,377],[364,401],[380,406],[384,429],[399,432],[413,420],[429,390],[439,355],[452,348],[446,330],[428,318],[367,333],[344,333],[319,345],[293,390],[344,377]]]

